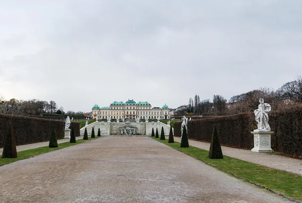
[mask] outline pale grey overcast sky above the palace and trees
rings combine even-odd
[[[0,0],[0,96],[170,108],[302,75],[300,0]]]

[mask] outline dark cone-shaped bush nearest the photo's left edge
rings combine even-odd
[[[10,122],[9,126],[10,126],[10,128],[5,137],[2,158],[17,158],[18,156],[17,156],[16,142],[15,142],[13,125],[11,122]]]

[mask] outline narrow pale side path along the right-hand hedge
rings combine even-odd
[[[167,137],[167,139],[168,138],[169,137]],[[179,137],[174,137],[174,141],[181,142],[181,139]],[[210,143],[195,140],[189,140],[189,145],[205,150],[210,149]],[[302,175],[302,160],[300,159],[224,146],[221,146],[221,150],[222,154],[226,156]]]

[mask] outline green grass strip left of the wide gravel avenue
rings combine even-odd
[[[88,138],[88,140],[80,139],[80,140],[77,140],[77,143],[64,142],[64,143],[58,144],[58,147],[55,147],[55,148],[49,148],[48,146],[46,146],[46,147],[39,147],[39,148],[36,148],[36,149],[29,149],[29,150],[24,150],[24,151],[21,151],[21,152],[17,152],[17,154],[18,154],[17,158],[13,158],[13,159],[0,158],[0,166],[5,165],[5,164],[9,164],[9,163],[12,163],[12,162],[15,162],[15,161],[19,161],[19,160],[22,160],[22,159],[28,159],[30,157],[37,156],[39,154],[45,154],[47,152],[52,152],[52,151],[55,151],[55,150],[63,149],[65,147],[70,147],[70,146],[73,146],[73,145],[77,145],[77,144],[80,144],[80,143],[83,143],[83,142],[86,142],[86,141],[89,141],[89,140],[98,139],[98,138],[99,137],[97,137],[97,138]]]

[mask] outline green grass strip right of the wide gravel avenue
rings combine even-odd
[[[181,148],[179,142],[168,143],[168,139],[160,140],[160,138],[152,138],[178,151],[195,157],[208,165],[214,166],[223,172],[236,177],[239,176],[239,178],[244,180],[252,181],[253,183],[257,183],[263,187],[302,201],[302,176],[300,175],[224,155],[223,159],[209,159],[209,151],[207,150],[193,146]]]

